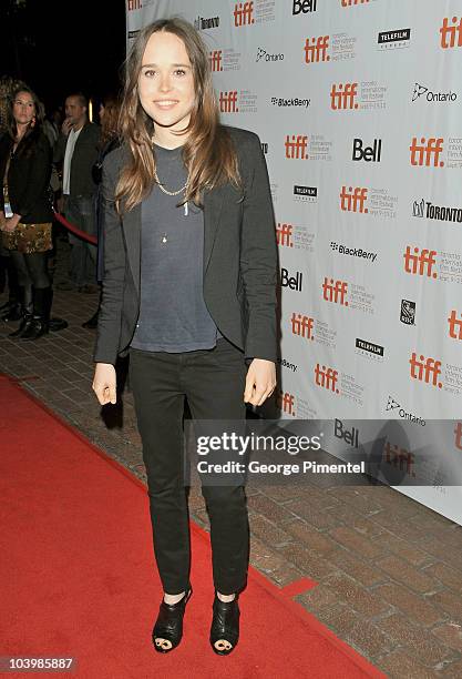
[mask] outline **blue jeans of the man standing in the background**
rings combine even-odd
[[[68,222],[89,235],[96,235],[94,195],[64,196]],[[71,245],[71,281],[76,287],[96,283],[96,245],[69,233]]]

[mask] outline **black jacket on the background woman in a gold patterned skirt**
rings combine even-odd
[[[0,182],[13,148],[9,134],[0,139]],[[11,210],[21,215],[22,224],[44,224],[53,220],[48,195],[51,176],[51,146],[43,132],[32,132],[22,139],[8,170],[8,194]],[[0,210],[4,210],[3,191],[0,191]]]

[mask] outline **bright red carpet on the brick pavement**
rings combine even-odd
[[[239,646],[215,656],[209,540],[195,524],[185,636],[156,653],[161,586],[144,486],[3,376],[0,440],[0,656],[74,657],[68,676],[94,679],[383,677],[289,599],[309,580],[285,594],[253,568]]]

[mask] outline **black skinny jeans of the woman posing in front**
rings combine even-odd
[[[245,419],[243,352],[219,338],[213,349],[171,354],[130,352],[143,459],[147,473],[154,554],[164,591],[186,591],[189,525],[184,485],[183,413],[193,419]],[[249,527],[244,486],[202,487],[211,519],[213,577],[224,595],[246,584]]]

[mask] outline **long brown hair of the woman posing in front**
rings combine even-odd
[[[219,124],[207,48],[195,28],[184,19],[160,19],[141,31],[126,60],[120,130],[131,158],[115,191],[120,212],[121,201],[124,210],[132,210],[155,182],[155,155],[151,142],[153,121],[140,103],[137,83],[147,41],[157,31],[179,38],[193,67],[195,102],[186,128],[189,134],[183,146],[189,182],[182,202],[202,205],[204,189],[211,190],[227,181],[236,188],[242,185],[236,151],[226,128]]]

